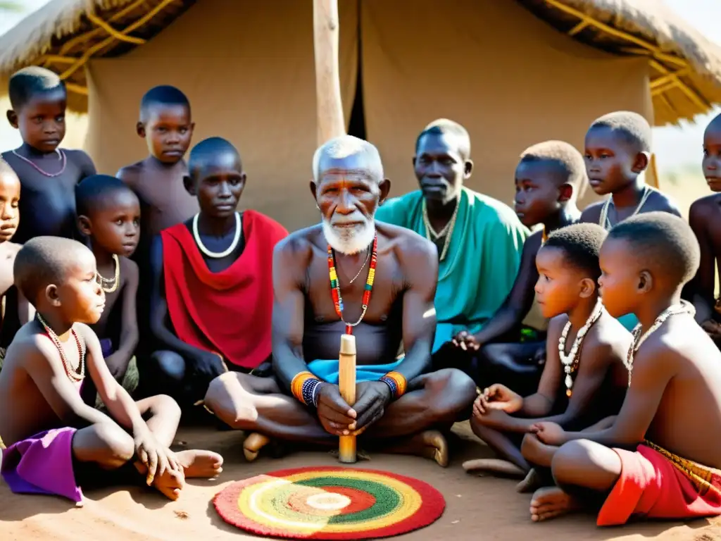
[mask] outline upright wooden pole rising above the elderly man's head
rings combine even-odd
[[[338,68],[338,29],[338,0],[313,0],[318,146],[345,134]]]

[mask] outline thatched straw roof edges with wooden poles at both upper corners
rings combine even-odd
[[[300,0],[298,0],[300,1]],[[721,47],[678,19],[663,0],[516,0],[561,32],[614,54],[649,59],[658,126],[721,102]],[[43,65],[87,110],[84,63],[142,45],[195,0],[51,0],[0,36],[0,91],[23,66]]]

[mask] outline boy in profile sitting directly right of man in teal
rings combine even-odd
[[[576,206],[588,180],[583,156],[563,141],[546,141],[523,151],[516,167],[516,199],[518,219],[524,226],[542,224],[542,231],[531,234],[523,244],[521,267],[508,298],[482,330],[476,335],[459,335],[456,343],[463,344],[477,356],[479,377],[486,382],[503,383],[516,392],[530,394],[538,387],[546,343],[547,321],[538,317],[534,307],[536,253],[551,232],[580,219]],[[534,336],[523,343],[494,343],[531,323],[536,316]],[[526,318],[526,320],[524,320]]]

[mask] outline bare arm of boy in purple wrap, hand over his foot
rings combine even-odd
[[[120,426],[131,431],[136,446],[136,457],[148,467],[147,483],[150,485],[153,482],[156,472],[162,475],[168,469],[182,471],[170,449],[160,445],[151,434],[131,395],[128,395],[128,392],[110,374],[95,333],[87,325],[76,325],[76,328],[85,338],[89,377],[92,378],[112,418],[118,421]]]

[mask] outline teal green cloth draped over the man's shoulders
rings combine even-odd
[[[433,351],[461,330],[477,333],[503,304],[521,263],[528,229],[500,201],[462,188],[446,258],[438,264]],[[376,220],[426,236],[420,190],[389,199]]]

